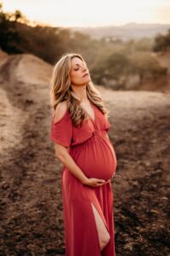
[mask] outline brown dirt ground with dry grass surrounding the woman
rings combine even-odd
[[[1,255],[65,255],[61,164],[49,141],[51,71],[32,55],[0,63]],[[99,90],[118,162],[116,256],[170,255],[170,95]]]

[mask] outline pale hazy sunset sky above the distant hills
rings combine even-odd
[[[170,24],[170,0],[3,0],[3,9],[51,26]]]

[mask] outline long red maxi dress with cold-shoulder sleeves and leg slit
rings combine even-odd
[[[111,124],[94,103],[92,107],[95,119],[89,117],[82,127],[72,125],[68,109],[55,123],[53,115],[50,138],[54,143],[69,148],[69,154],[87,177],[102,178],[106,181],[116,172],[116,154],[110,139],[106,136]],[[63,166],[62,196],[65,255],[115,256],[111,180],[99,187],[90,187],[82,184]],[[99,212],[111,236],[111,240],[102,251],[99,247],[92,204]]]

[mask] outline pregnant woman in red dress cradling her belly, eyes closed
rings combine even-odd
[[[66,256],[115,256],[113,192],[116,154],[108,111],[81,55],[54,67],[50,138],[62,162]]]

